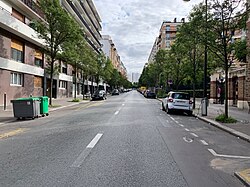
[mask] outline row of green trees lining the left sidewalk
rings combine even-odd
[[[58,60],[72,65],[75,85],[78,72],[81,72],[83,80],[87,80],[90,76],[94,78],[97,85],[100,80],[111,87],[130,85],[101,50],[96,52],[90,48],[79,24],[62,8],[59,0],[40,0],[39,8],[44,13],[44,20],[34,20],[33,26],[39,38],[44,40],[46,72],[51,79],[50,105],[52,105],[52,80],[58,73]],[[74,95],[76,97],[76,93]]]

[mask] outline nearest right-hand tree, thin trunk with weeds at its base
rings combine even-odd
[[[234,60],[232,48],[233,32],[245,27],[247,12],[243,0],[212,0],[212,18],[208,22],[211,35],[208,37],[208,48],[222,62],[225,71],[225,116],[228,118],[228,70]],[[245,22],[246,23],[246,22]]]

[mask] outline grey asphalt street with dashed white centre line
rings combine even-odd
[[[137,91],[0,126],[0,186],[238,187],[249,143]]]

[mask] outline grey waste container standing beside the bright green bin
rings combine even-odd
[[[11,100],[13,104],[14,117],[20,118],[38,118],[40,115],[40,99],[39,98],[18,98]]]

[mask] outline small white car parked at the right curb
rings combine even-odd
[[[172,111],[186,112],[188,115],[193,114],[193,105],[190,95],[185,92],[169,92],[167,97],[162,100],[162,110],[170,113]]]

